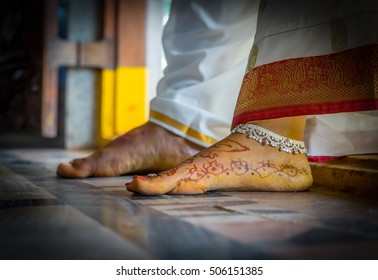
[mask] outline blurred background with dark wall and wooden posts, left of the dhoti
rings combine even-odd
[[[169,8],[0,1],[0,148],[94,148],[146,122]]]

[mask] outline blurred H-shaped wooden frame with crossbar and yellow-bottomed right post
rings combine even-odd
[[[102,69],[99,138],[147,121],[146,0],[104,0],[104,34],[94,42],[58,37],[58,0],[45,1],[42,135],[58,133],[58,68]]]

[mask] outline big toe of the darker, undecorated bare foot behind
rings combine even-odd
[[[92,168],[87,160],[76,159],[70,163],[59,164],[56,175],[65,178],[85,178],[92,175]]]

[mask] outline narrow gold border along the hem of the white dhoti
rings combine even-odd
[[[209,137],[207,136],[206,134],[203,134],[183,123],[180,123],[178,121],[176,121],[175,119],[172,119],[171,117],[168,117],[162,113],[159,113],[159,112],[156,112],[156,111],[153,111],[151,110],[150,111],[150,117],[151,118],[154,118],[158,121],[161,121],[183,133],[185,133],[186,135],[190,136],[190,137],[193,137],[197,140],[200,140],[201,142],[203,143],[206,143],[206,144],[209,144],[209,145],[212,145],[214,143],[217,142],[217,140],[215,140],[214,138],[212,137]]]

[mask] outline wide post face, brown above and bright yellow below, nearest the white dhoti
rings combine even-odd
[[[115,133],[147,121],[146,0],[119,0]]]

